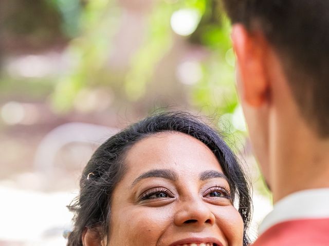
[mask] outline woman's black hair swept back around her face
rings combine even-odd
[[[136,142],[152,134],[175,131],[202,141],[215,154],[231,188],[232,199],[239,200],[239,213],[244,222],[244,245],[249,244],[246,230],[251,219],[250,186],[236,156],[214,129],[196,116],[183,112],[157,113],[107,139],[84,168],[80,180],[80,195],[68,208],[75,213],[74,230],[68,246],[81,246],[85,228],[101,229],[107,236],[111,197],[125,172],[123,158]],[[92,175],[90,175],[92,174]]]

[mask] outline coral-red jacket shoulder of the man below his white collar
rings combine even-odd
[[[266,230],[253,246],[329,245],[329,218],[284,221]]]

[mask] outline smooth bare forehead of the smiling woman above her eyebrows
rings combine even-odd
[[[137,176],[152,169],[171,169],[179,175],[206,170],[222,172],[213,152],[203,142],[179,132],[162,132],[137,142],[126,154],[127,173]]]

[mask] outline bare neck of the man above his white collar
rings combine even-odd
[[[329,139],[302,123],[279,131],[270,164],[273,201],[297,191],[329,188]]]

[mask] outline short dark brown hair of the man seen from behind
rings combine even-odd
[[[223,0],[232,23],[262,31],[277,50],[303,117],[329,137],[329,1]]]

